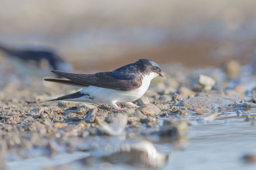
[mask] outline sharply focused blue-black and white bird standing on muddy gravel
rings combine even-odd
[[[57,70],[53,70],[52,73],[67,79],[44,80],[86,88],[42,102],[66,100],[98,105],[110,104],[117,111],[122,110],[117,103],[125,103],[128,107],[138,107],[132,102],[145,94],[151,80],[158,76],[166,78],[160,66],[150,59],[138,59],[137,62],[124,65],[116,70],[95,74],[75,74]]]

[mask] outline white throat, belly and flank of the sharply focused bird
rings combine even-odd
[[[140,88],[132,91],[117,91],[108,88],[99,88],[95,86],[89,86],[80,92],[83,94],[88,94],[77,99],[72,99],[72,101],[77,102],[90,102],[95,104],[107,104],[107,103],[120,103],[120,102],[133,102],[139,99],[148,90],[151,79],[157,75],[148,75],[143,77],[143,83]]]

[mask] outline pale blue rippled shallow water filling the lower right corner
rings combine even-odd
[[[255,112],[250,111],[252,115]],[[187,134],[188,147],[184,151],[172,150],[166,169],[255,169],[256,164],[245,164],[241,159],[244,154],[256,153],[256,127],[244,120],[245,117],[230,113],[202,124],[192,123]]]

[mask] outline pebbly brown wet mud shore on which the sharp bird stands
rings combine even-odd
[[[134,102],[140,108],[120,112],[109,105],[82,102],[39,104],[78,89],[36,78],[29,78],[28,85],[24,85],[17,77],[14,80],[1,75],[6,80],[0,91],[2,167],[10,168],[13,161],[36,156],[53,158],[78,152],[89,155],[72,161],[82,167],[95,167],[97,162],[168,167],[171,150],[163,152],[155,146],[168,143],[175,150],[186,150],[187,133],[195,123],[216,122],[235,112],[254,127],[255,116],[250,114],[256,108],[253,66],[238,65],[239,70],[233,75],[233,67],[228,64],[204,69],[163,65],[167,79],[151,82],[146,94]],[[76,169],[72,164],[44,168],[61,169],[65,165]]]

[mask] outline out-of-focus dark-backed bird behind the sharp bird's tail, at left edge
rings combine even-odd
[[[0,44],[0,50],[22,76],[45,77],[52,69],[73,71],[72,65],[49,48],[13,48]]]

